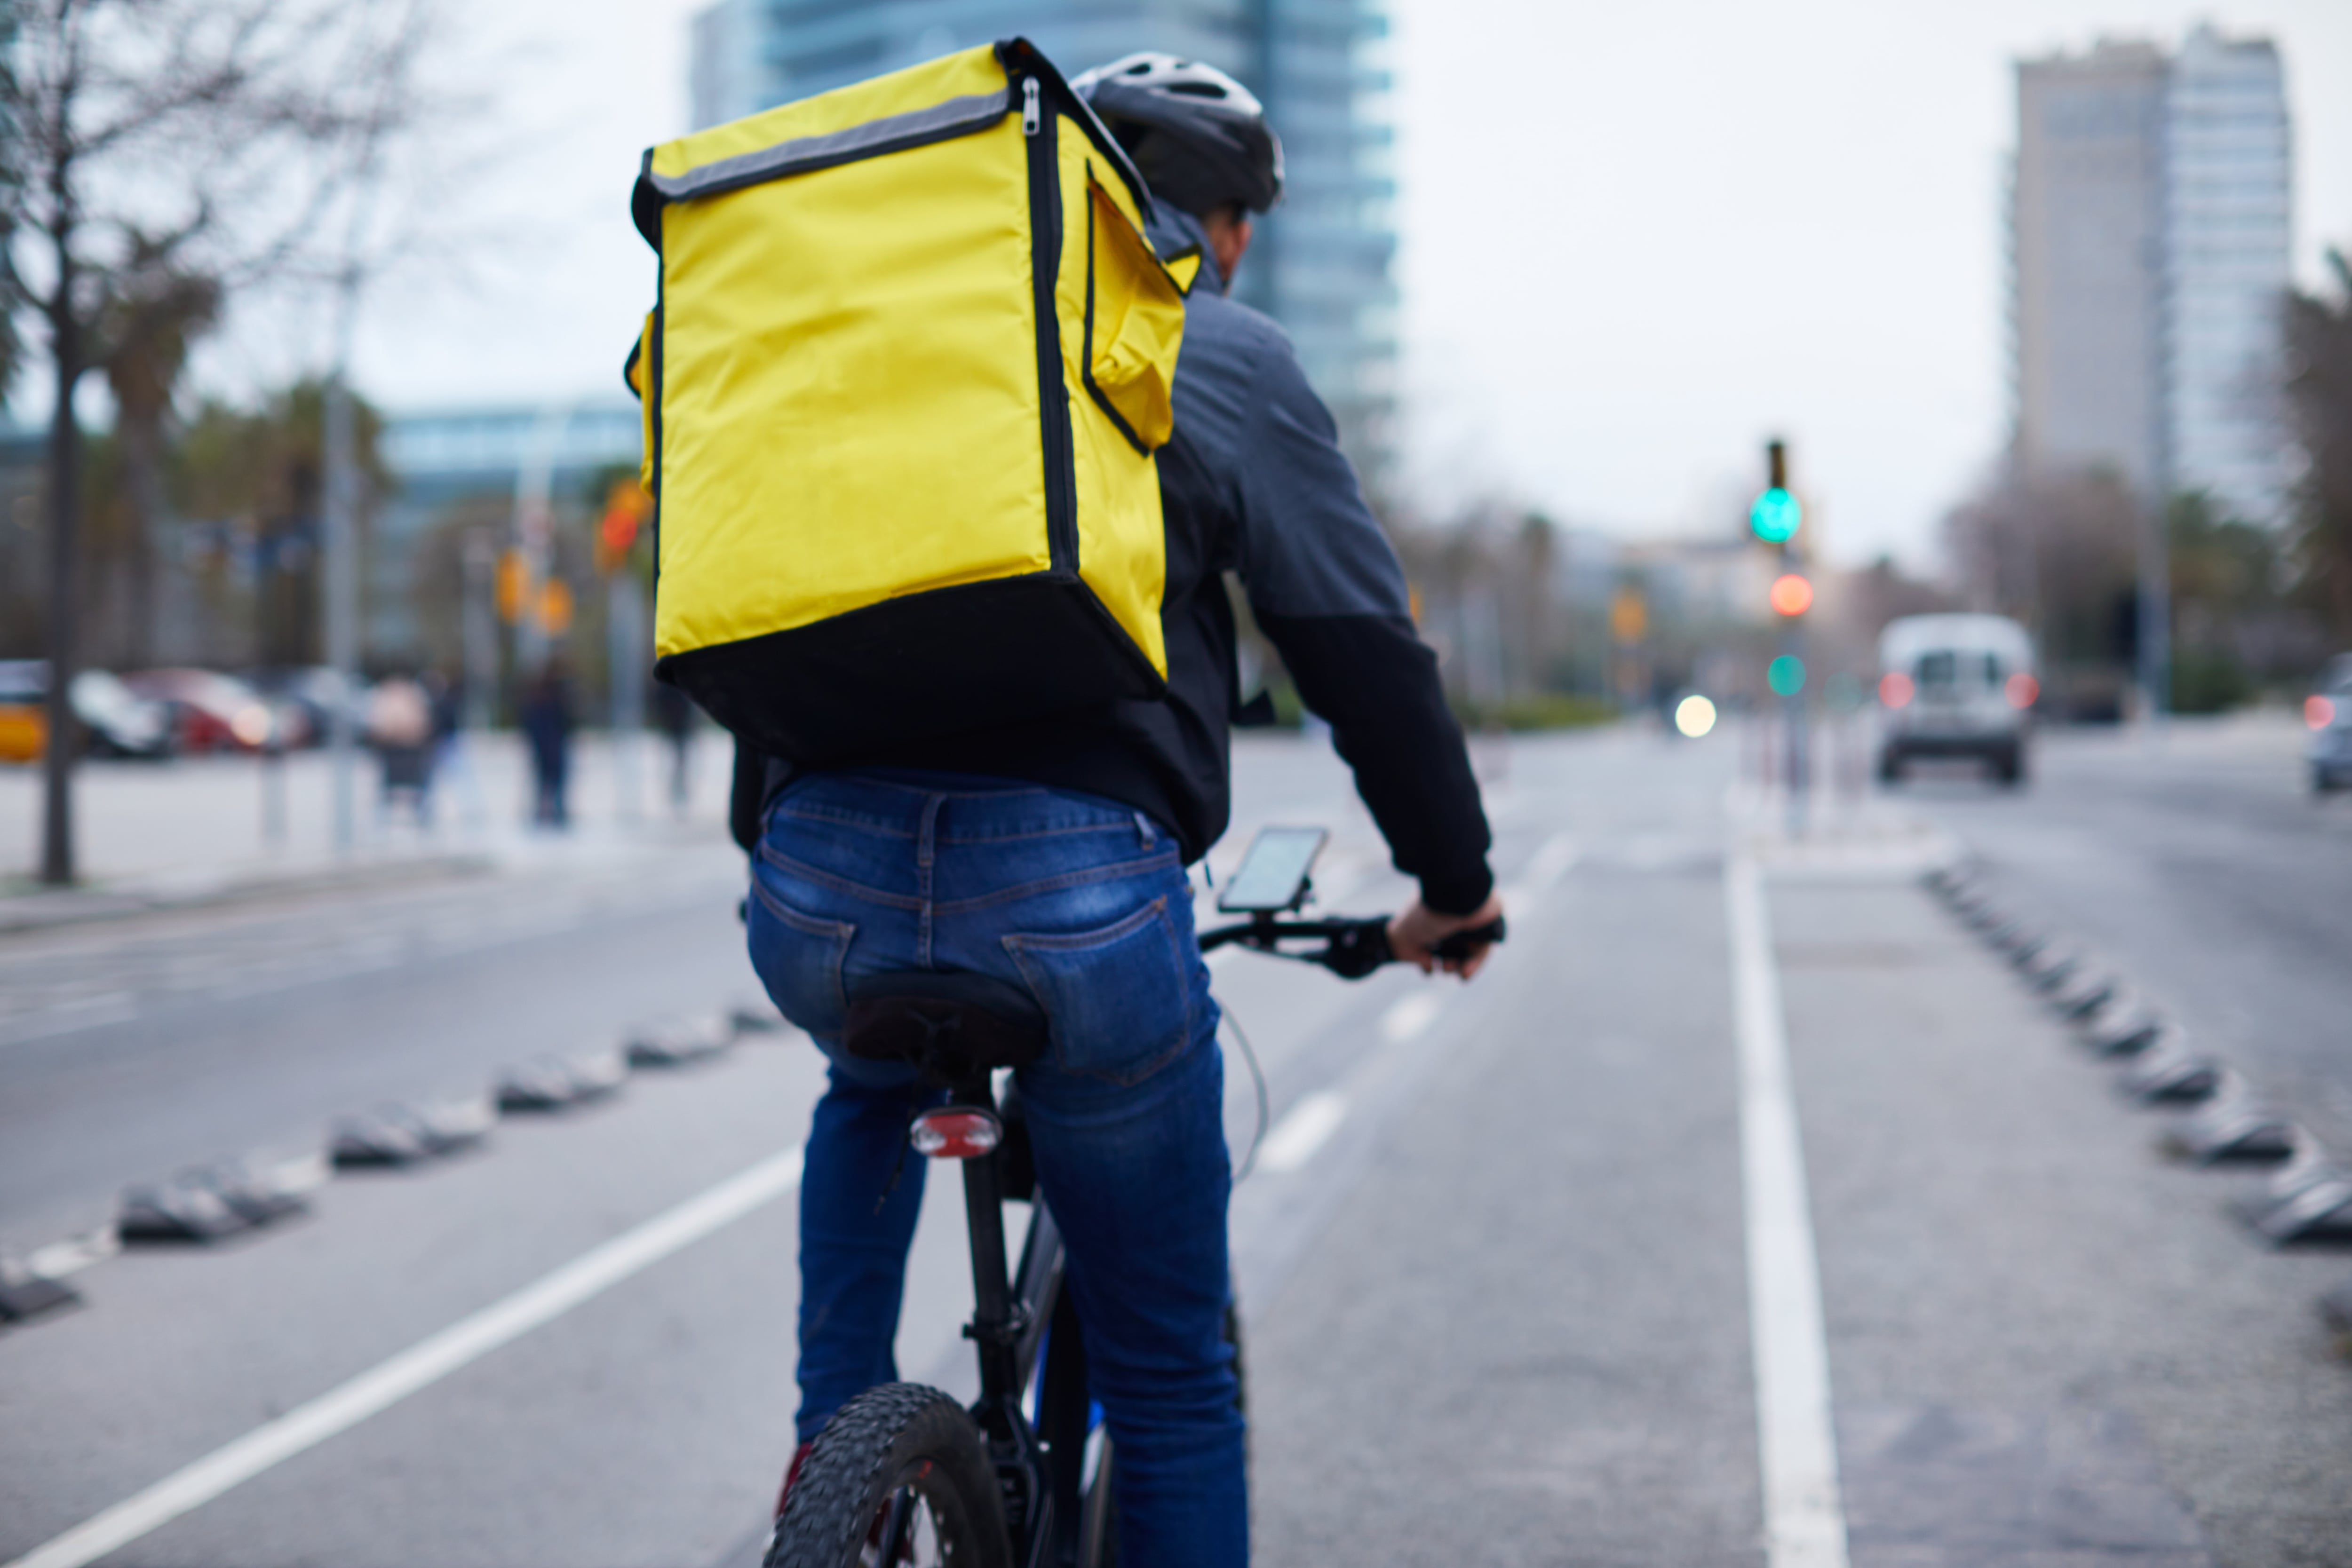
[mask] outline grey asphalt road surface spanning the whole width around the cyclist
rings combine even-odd
[[[1940,825],[2020,889],[2077,865],[2032,884],[2072,919],[2060,889],[2100,891],[2082,865],[2145,858],[2096,799],[2110,759],[2051,745],[2009,797],[1926,780],[1804,851],[1726,816],[1738,759],[1729,733],[1489,752],[1515,929],[1470,987],[1218,961],[1272,1110],[1235,1201],[1258,1559],[1766,1561],[1788,1505],[1764,1476],[1804,1399],[1759,1368],[1811,1321],[1750,1288],[1759,1222],[1788,1241],[1790,1218],[1759,1211],[1743,1145],[1769,1100],[1750,1051],[1769,973],[1849,1559],[2352,1563],[2352,1366],[2312,1312],[2352,1262],[2260,1246],[2225,1208],[2253,1178],[2161,1159],[2161,1119],[1915,882]],[[2284,816],[2300,802],[2270,818],[2244,790],[2150,778],[2211,790],[2183,806],[2201,832],[2300,823],[2319,849],[2279,860],[2340,853],[2333,816]],[[1240,818],[1218,867],[1249,825],[1327,823],[1331,907],[1404,891],[1312,741],[1244,745]],[[2237,886],[2230,844],[2206,898]],[[1745,856],[1771,940],[1743,966]],[[750,987],[734,882],[724,849],[670,844],[0,940],[0,1234],[31,1248],[122,1182],[724,1006]],[[2164,903],[2133,919],[2197,945],[2204,905]],[[2343,900],[2298,907],[2237,940],[2305,973],[2291,954],[2340,938]],[[2098,936],[2124,957],[2126,931]],[[2143,961],[2206,1006],[2173,950]],[[2317,1037],[2303,1056],[2331,1081]],[[1228,1065],[1240,1154],[1256,1100],[1230,1044]],[[0,1333],[0,1563],[221,1453],[249,1476],[148,1507],[96,1561],[743,1563],[790,1446],[790,1152],[816,1088],[804,1041],[748,1037],[510,1117],[477,1154],[343,1175],[247,1241],[75,1274],[85,1307]],[[960,1246],[934,1182],[898,1349],[950,1387]],[[252,1467],[254,1432],[369,1373],[367,1399]]]

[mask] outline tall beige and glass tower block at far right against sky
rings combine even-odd
[[[2143,496],[2284,508],[2279,308],[2291,129],[2270,40],[2105,40],[2018,61],[2009,287],[2016,451]]]

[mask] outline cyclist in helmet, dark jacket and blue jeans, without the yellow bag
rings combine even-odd
[[[1134,1568],[1244,1563],[1223,1063],[1185,865],[1225,830],[1240,574],[1258,625],[1421,898],[1390,926],[1430,947],[1491,922],[1486,818],[1404,574],[1282,331],[1225,299],[1282,148],[1232,78],[1136,54],[1077,78],[1160,195],[1162,254],[1204,254],[1185,306],[1167,515],[1164,701],[875,750],[811,771],[739,755],[750,957],[830,1058],[800,1199],[802,1448],[891,1382],[922,1194],[903,1159],[915,1072],[840,1051],[844,976],[946,969],[1035,994],[1051,1053],[1021,1070],[1037,1178],[1068,1244],[1089,1378],[1117,1441]],[[1470,976],[1484,950],[1444,969]],[[781,1500],[779,1500],[781,1512]]]

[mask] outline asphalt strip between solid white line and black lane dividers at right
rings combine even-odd
[[[1910,877],[1771,879],[1856,1568],[2345,1561],[2340,1255],[2159,1152]]]

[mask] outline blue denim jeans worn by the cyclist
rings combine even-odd
[[[1120,1446],[1134,1568],[1249,1561],[1216,1001],[1176,842],[1089,795],[946,773],[828,773],[769,811],[750,961],[830,1060],[800,1187],[800,1436],[896,1380],[891,1340],[931,1095],[840,1048],[844,978],[969,971],[1025,987],[1051,1051],[1021,1070],[1037,1182],[1068,1246],[1094,1396]]]

